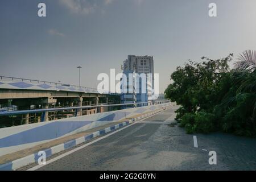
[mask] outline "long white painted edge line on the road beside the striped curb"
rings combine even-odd
[[[156,114],[157,114],[157,113],[156,113]],[[153,116],[153,115],[155,115],[155,114],[152,114],[152,115],[150,115],[149,117],[151,117],[151,116]],[[149,117],[146,117],[146,118],[144,118],[144,119],[147,119],[147,118],[149,118]],[[141,121],[143,121],[144,119],[142,119]],[[81,150],[82,148],[85,148],[85,147],[87,147],[87,146],[89,146],[89,145],[91,145],[91,144],[93,144],[93,143],[96,143],[96,142],[98,142],[98,141],[100,141],[100,140],[102,140],[102,139],[104,139],[104,138],[107,138],[107,137],[109,137],[110,135],[113,135],[113,134],[115,134],[115,133],[118,133],[119,131],[122,131],[122,130],[126,129],[127,127],[133,126],[135,123],[138,123],[138,122],[131,123],[130,125],[125,126],[125,127],[122,127],[121,129],[119,129],[119,130],[117,130],[117,131],[113,131],[112,133],[110,133],[110,134],[108,134],[108,135],[105,135],[105,136],[103,136],[103,137],[100,137],[100,138],[98,138],[98,139],[96,139],[96,140],[93,140],[92,142],[86,143],[86,144],[84,144],[84,145],[82,145],[82,146],[80,146],[80,147],[74,148],[73,150],[68,151],[68,152],[66,152],[65,154],[61,154],[61,155],[57,156],[56,158],[53,158],[53,159],[51,159],[51,160],[48,160],[45,165],[40,165],[40,164],[39,164],[39,165],[37,165],[37,166],[35,166],[35,167],[32,167],[32,168],[30,168],[30,169],[27,169],[27,171],[35,171],[36,169],[39,169],[39,168],[41,168],[41,167],[44,167],[44,166],[46,166],[46,165],[49,164],[49,163],[55,162],[56,160],[59,160],[59,159],[61,159],[61,158],[64,158],[65,156],[67,156],[67,155],[69,155],[69,154],[72,154],[72,153],[74,153],[74,152],[76,152],[76,151]],[[119,125],[117,125],[117,126],[119,127]]]

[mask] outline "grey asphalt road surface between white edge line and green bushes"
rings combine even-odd
[[[255,170],[256,140],[229,134],[194,134],[170,125],[168,109],[38,170]],[[217,164],[210,165],[209,151]],[[30,168],[27,166],[24,169]]]

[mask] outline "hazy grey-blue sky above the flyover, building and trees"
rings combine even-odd
[[[189,59],[256,50],[255,8],[255,0],[1,0],[0,75],[78,85],[81,66],[81,86],[97,88],[98,74],[121,72],[127,55],[148,55],[163,93]]]

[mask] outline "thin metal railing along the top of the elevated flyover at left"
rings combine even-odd
[[[50,84],[50,85],[55,85],[55,86],[72,86],[73,88],[78,88],[78,89],[85,89],[88,90],[88,92],[93,92],[93,93],[99,93],[98,89],[96,88],[90,88],[90,87],[85,87],[85,86],[77,86],[77,85],[71,85],[71,84],[63,84],[60,82],[51,82],[51,81],[42,81],[42,80],[33,80],[33,79],[28,79],[28,78],[16,78],[16,77],[7,77],[7,76],[0,76],[0,80],[6,80],[6,81],[25,81],[25,82],[31,82],[31,83],[37,83],[37,84]],[[106,90],[100,90],[104,94],[112,94],[112,95],[119,95],[119,93],[110,93],[109,91]]]

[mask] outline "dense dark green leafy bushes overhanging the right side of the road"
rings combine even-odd
[[[232,56],[203,57],[201,63],[189,61],[172,73],[165,94],[181,106],[176,119],[187,133],[256,135],[256,69],[230,70]]]

